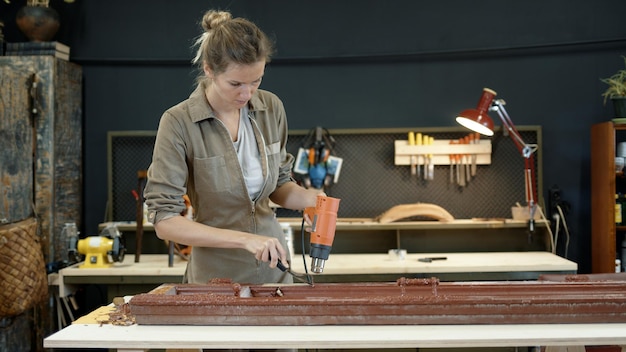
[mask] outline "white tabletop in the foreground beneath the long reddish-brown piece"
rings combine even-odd
[[[111,348],[128,352],[166,348],[371,349],[574,345],[626,345],[626,324],[113,326],[75,323],[43,341],[44,348]]]

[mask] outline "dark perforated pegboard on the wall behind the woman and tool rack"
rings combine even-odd
[[[526,143],[538,145],[535,154],[537,194],[543,194],[541,127],[518,126]],[[502,130],[490,138],[490,165],[478,165],[476,176],[465,187],[450,183],[450,166],[436,165],[434,178],[411,175],[410,167],[394,165],[394,141],[407,139],[409,131],[437,139],[458,139],[467,135],[462,127],[330,130],[335,139],[333,155],[343,164],[337,183],[325,191],[341,198],[339,217],[373,218],[398,204],[437,204],[457,219],[510,218],[511,207],[525,203],[524,159],[513,140]],[[288,152],[294,156],[309,131],[289,133]],[[111,131],[108,133],[107,221],[135,219],[137,171],[147,169],[152,158],[156,131]],[[542,203],[541,198],[539,199]],[[295,211],[278,209],[279,217],[300,217]]]

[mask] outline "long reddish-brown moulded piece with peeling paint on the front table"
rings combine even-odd
[[[138,324],[609,323],[626,322],[626,281],[164,284],[129,306]]]

